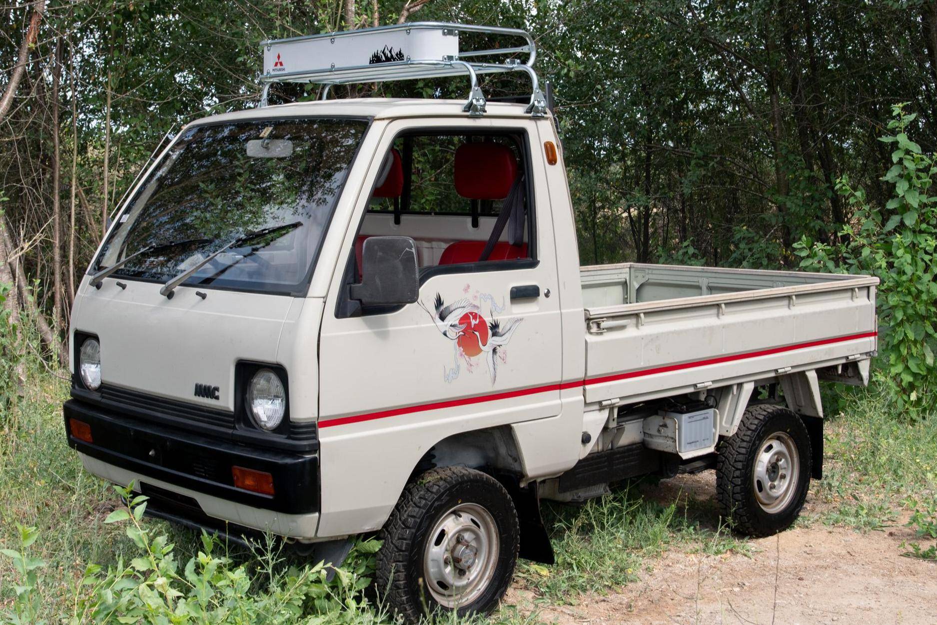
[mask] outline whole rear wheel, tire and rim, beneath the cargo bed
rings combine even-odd
[[[770,536],[796,521],[811,484],[811,438],[795,412],[749,407],[721,442],[716,493],[723,517],[749,536]]]

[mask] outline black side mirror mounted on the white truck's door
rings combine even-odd
[[[413,304],[420,296],[416,244],[409,236],[372,236],[364,240],[361,284],[349,297],[363,306]]]

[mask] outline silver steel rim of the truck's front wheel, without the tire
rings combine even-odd
[[[448,608],[474,602],[495,575],[499,551],[498,526],[482,506],[460,503],[440,516],[423,558],[433,598]]]

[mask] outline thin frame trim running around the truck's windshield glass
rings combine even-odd
[[[341,199],[345,195],[345,186],[348,183],[349,174],[351,170],[354,168],[355,163],[358,161],[358,156],[361,155],[362,145],[364,145],[364,141],[366,141],[367,135],[370,132],[371,127],[374,125],[374,117],[365,116],[365,115],[299,115],[299,114],[262,115],[262,116],[257,116],[257,117],[251,116],[251,117],[245,117],[242,119],[229,119],[229,120],[215,120],[211,117],[208,117],[204,121],[200,120],[200,121],[192,122],[191,124],[187,126],[183,126],[179,130],[178,134],[176,134],[176,136],[172,139],[170,144],[166,146],[162,154],[160,154],[159,157],[152,163],[150,168],[146,171],[146,174],[144,176],[141,176],[141,179],[140,181],[138,181],[136,188],[133,189],[134,191],[133,194],[132,195],[128,194],[124,200],[124,203],[120,206],[119,210],[113,214],[114,218],[112,220],[111,227],[108,228],[107,234],[101,240],[101,245],[98,246],[97,252],[95,253],[95,257],[91,260],[91,263],[88,265],[88,269],[85,272],[85,275],[95,275],[97,274],[97,272],[101,271],[100,261],[104,257],[104,252],[105,252],[104,246],[111,239],[114,229],[120,227],[120,223],[121,223],[120,217],[126,213],[127,209],[133,204],[134,201],[137,201],[137,199],[140,196],[141,191],[143,190],[143,187],[146,181],[150,179],[150,175],[153,173],[153,171],[157,171],[159,166],[165,162],[166,158],[170,155],[170,151],[172,147],[180,140],[180,138],[188,130],[191,130],[194,128],[207,127],[207,126],[224,126],[224,125],[230,125],[230,124],[262,123],[268,120],[276,120],[276,121],[343,120],[343,121],[364,122],[364,130],[362,131],[361,139],[360,141],[358,141],[358,145],[355,146],[354,153],[351,155],[349,169],[345,175],[345,180],[342,181],[342,185],[338,189],[337,199],[335,200],[335,206],[333,206],[333,210],[329,212],[329,216],[325,220],[325,223],[323,224],[322,237],[324,241],[324,237],[328,234],[329,229],[332,228],[332,220],[335,218],[335,208],[337,207],[338,202],[341,201]],[[295,290],[251,289],[249,287],[229,286],[229,285],[223,285],[223,284],[216,284],[214,282],[209,283],[209,284],[190,285],[190,284],[186,284],[188,282],[188,279],[186,279],[186,281],[182,282],[181,284],[177,285],[177,288],[178,287],[191,287],[193,289],[198,288],[199,290],[232,290],[232,291],[244,292],[244,293],[258,293],[262,295],[279,295],[279,296],[285,296],[285,297],[305,297],[306,293],[309,292],[309,284],[312,282],[312,276],[316,271],[316,267],[319,265],[319,257],[320,257],[321,252],[322,252],[322,246],[320,242],[320,245],[316,247],[315,254],[312,256],[312,258],[309,261],[309,268],[306,270],[305,276],[298,283],[297,288]],[[115,273],[119,273],[119,272],[120,270],[118,269],[117,272]],[[106,277],[109,277],[109,276],[106,276]],[[158,284],[160,286],[166,283],[165,280],[160,280],[157,278],[146,278],[146,277],[140,277],[140,276],[134,276],[134,275],[121,275],[120,277],[121,279],[124,279],[124,280],[132,280],[134,282]]]

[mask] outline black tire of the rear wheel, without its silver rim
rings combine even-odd
[[[779,510],[768,512],[755,495],[756,457],[767,439],[784,433],[793,440],[799,458],[796,488]],[[736,433],[721,441],[716,463],[716,496],[722,517],[737,532],[753,537],[771,536],[796,521],[811,484],[811,438],[796,412],[772,404],[745,410]]]

